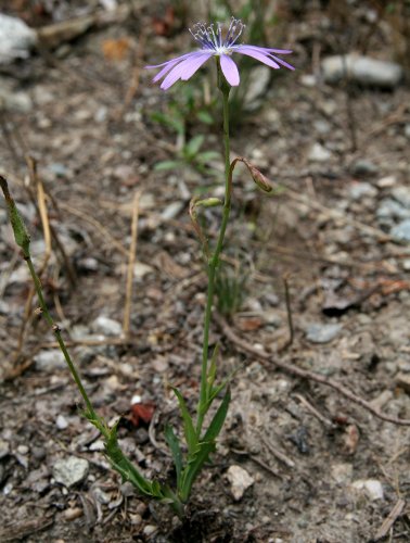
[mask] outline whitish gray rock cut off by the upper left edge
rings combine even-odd
[[[24,21],[0,13],[0,64],[27,59],[37,43],[37,33]]]

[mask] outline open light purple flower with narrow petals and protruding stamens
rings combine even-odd
[[[259,62],[279,70],[280,65],[287,67],[289,70],[295,70],[291,64],[283,61],[282,59],[276,56],[273,53],[289,54],[292,51],[286,49],[269,49],[266,47],[257,46],[236,46],[236,41],[241,36],[245,25],[242,24],[240,20],[231,20],[228,31],[225,37],[222,37],[222,24],[217,23],[216,28],[214,25],[206,27],[203,23],[196,23],[190,33],[192,34],[195,41],[201,46],[197,51],[192,51],[190,53],[177,56],[163,64],[157,64],[155,66],[145,66],[148,70],[158,68],[162,70],[156,74],[153,83],[163,79],[161,88],[163,90],[169,89],[179,79],[187,81],[194,75],[194,73],[200,70],[200,67],[212,56],[219,56],[220,67],[227,81],[232,87],[236,87],[240,83],[240,75],[236,64],[232,60],[232,53],[245,54],[252,56]]]

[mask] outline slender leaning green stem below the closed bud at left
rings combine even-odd
[[[41,281],[40,281],[39,277],[38,277],[37,273],[36,273],[36,269],[34,267],[34,265],[33,265],[31,257],[28,254],[28,255],[25,255],[24,258],[27,262],[28,269],[30,270],[30,274],[31,274],[33,282],[34,282],[34,286],[35,286],[35,289],[36,289],[36,292],[37,292],[37,296],[38,296],[39,303],[40,303],[41,313],[42,313],[43,317],[46,318],[47,323],[51,326],[51,328],[54,331],[55,338],[56,338],[57,343],[60,345],[60,349],[61,349],[61,351],[62,351],[62,353],[64,355],[65,362],[67,363],[69,371],[72,372],[73,379],[75,380],[75,382],[76,382],[76,384],[78,387],[78,390],[79,390],[79,392],[80,392],[80,394],[82,396],[82,400],[85,401],[85,403],[87,405],[88,416],[90,418],[92,418],[92,420],[94,420],[95,426],[101,431],[101,433],[104,435],[104,438],[108,438],[110,432],[105,428],[105,425],[102,422],[102,420],[100,419],[100,417],[97,415],[94,408],[92,407],[92,404],[90,402],[90,399],[88,397],[86,389],[82,386],[82,382],[81,382],[80,376],[79,376],[79,374],[77,371],[77,368],[74,365],[74,362],[72,361],[72,357],[69,356],[67,348],[65,346],[64,340],[63,340],[63,338],[61,336],[61,330],[60,330],[59,326],[54,323],[54,320],[53,320],[53,318],[52,318],[52,316],[51,316],[51,314],[50,314],[50,312],[49,312],[49,310],[47,307],[44,295],[42,293]]]

